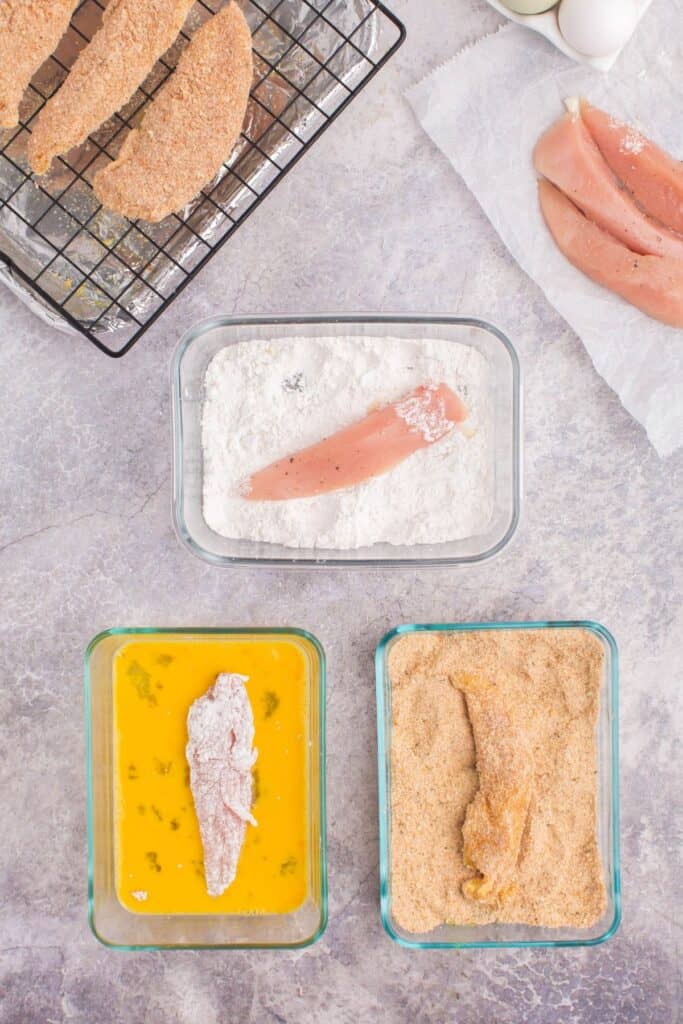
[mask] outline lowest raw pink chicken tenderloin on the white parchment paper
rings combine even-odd
[[[539,182],[539,199],[550,232],[570,263],[648,316],[683,328],[683,261],[632,252],[549,181]]]

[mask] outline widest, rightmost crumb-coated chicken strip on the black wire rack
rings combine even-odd
[[[131,220],[163,220],[229,156],[253,73],[251,33],[234,0],[195,34],[174,74],[93,180],[100,203]]]

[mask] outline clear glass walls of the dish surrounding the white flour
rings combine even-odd
[[[214,532],[202,511],[202,408],[207,367],[219,349],[267,338],[353,337],[459,341],[483,354],[490,372],[494,436],[494,512],[476,536],[445,544],[376,544],[354,550],[288,548],[231,540]],[[479,562],[501,551],[519,521],[521,502],[521,387],[517,354],[506,336],[483,321],[454,316],[321,315],[217,316],[193,327],[172,362],[173,513],[180,540],[214,565],[400,566]]]

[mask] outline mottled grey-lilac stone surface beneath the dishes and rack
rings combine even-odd
[[[483,0],[395,8],[410,36],[393,63],[125,359],[0,291],[3,1024],[677,1020],[683,458],[655,456],[401,98],[498,16]],[[498,560],[220,571],[180,547],[179,335],[210,313],[325,309],[470,313],[512,337],[525,504]],[[375,645],[411,621],[563,617],[597,618],[621,646],[621,931],[578,951],[401,949],[378,909]],[[125,954],[90,935],[83,650],[105,627],[162,624],[297,625],[327,648],[331,915],[308,950]]]

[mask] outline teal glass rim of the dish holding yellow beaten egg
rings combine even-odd
[[[199,636],[199,637],[219,637],[219,636],[294,636],[309,643],[315,652],[318,662],[318,699],[316,712],[318,716],[318,762],[319,779],[317,786],[317,813],[319,821],[317,865],[319,871],[319,921],[315,930],[301,941],[292,942],[242,942],[242,943],[135,943],[135,942],[112,942],[104,938],[98,931],[95,920],[95,806],[94,806],[94,779],[93,779],[93,730],[92,730],[92,678],[91,658],[93,651],[98,644],[108,638],[114,637],[144,637],[151,635],[161,636]],[[166,950],[166,949],[304,949],[317,942],[324,934],[329,920],[328,908],[328,855],[327,855],[327,657],[325,648],[312,633],[297,627],[115,627],[102,630],[95,634],[88,643],[84,655],[84,683],[85,683],[85,732],[86,732],[86,821],[88,836],[88,924],[93,936],[103,946],[110,949],[122,950],[126,952],[136,952],[141,950]],[[190,918],[193,915],[175,915],[178,918]],[[216,915],[217,918],[220,915]]]

